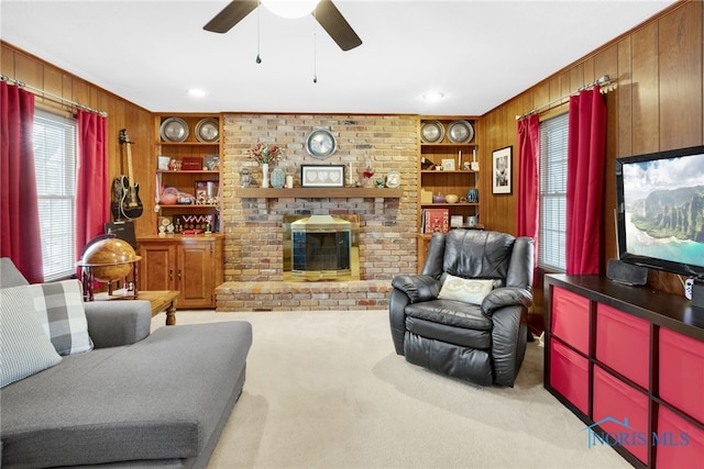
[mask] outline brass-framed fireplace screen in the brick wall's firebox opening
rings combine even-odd
[[[292,280],[350,279],[354,267],[353,226],[348,220],[330,215],[302,216],[292,222],[290,259],[284,259],[285,273],[289,264]],[[286,241],[286,233],[284,237]],[[286,254],[288,249],[284,250]]]

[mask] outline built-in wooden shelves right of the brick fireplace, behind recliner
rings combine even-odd
[[[421,116],[418,138],[420,148],[418,171],[418,269],[422,269],[430,237],[435,231],[455,224],[468,227],[468,217],[480,223],[479,164],[476,152],[476,118]],[[475,165],[472,166],[472,163]],[[476,198],[469,197],[470,189]],[[435,200],[454,194],[458,200]]]

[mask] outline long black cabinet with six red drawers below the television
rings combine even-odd
[[[600,276],[546,276],[544,295],[544,387],[587,444],[637,468],[701,467],[704,310]]]

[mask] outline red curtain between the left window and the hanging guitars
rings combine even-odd
[[[108,120],[79,110],[76,161],[76,256],[110,221],[108,181]]]

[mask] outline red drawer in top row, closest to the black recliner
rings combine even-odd
[[[590,300],[554,287],[551,332],[583,354],[588,354]]]

